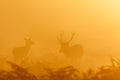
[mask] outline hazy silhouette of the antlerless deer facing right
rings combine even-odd
[[[15,60],[22,61],[25,57],[27,57],[31,46],[34,44],[34,42],[29,38],[25,38],[25,46],[22,47],[16,47],[13,49],[13,56]]]

